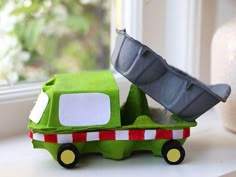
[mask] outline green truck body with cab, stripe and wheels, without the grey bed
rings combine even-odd
[[[81,154],[120,160],[140,150],[179,164],[190,127],[196,126],[174,115],[163,121],[134,85],[121,106],[110,71],[55,75],[43,85],[29,118],[34,148],[48,150],[65,168],[75,167]]]

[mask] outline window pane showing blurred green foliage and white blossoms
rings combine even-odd
[[[0,3],[0,84],[109,67],[110,1]]]

